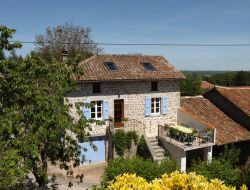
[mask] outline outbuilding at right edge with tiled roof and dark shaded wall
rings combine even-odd
[[[215,86],[204,94],[231,117],[235,122],[250,131],[250,87],[222,87]]]

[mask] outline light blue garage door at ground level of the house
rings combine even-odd
[[[81,147],[87,148],[86,152],[81,150],[81,156],[85,155],[86,161],[84,163],[105,161],[105,140],[102,138],[93,138],[92,143],[97,147],[97,151],[94,151],[89,142],[79,143]]]

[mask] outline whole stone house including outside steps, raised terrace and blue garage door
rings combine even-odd
[[[185,77],[164,57],[149,55],[94,55],[80,63],[84,75],[78,81],[81,90],[67,95],[72,104],[70,114],[78,118],[75,103],[86,105],[82,111],[86,119],[103,120],[104,125],[90,124],[86,129],[98,146],[98,153],[85,152],[92,162],[106,160],[109,145],[107,127],[114,130],[135,130],[144,135],[154,160],[165,158],[165,150],[177,160],[181,171],[186,171],[186,152],[203,154],[210,159],[215,143],[215,130],[205,136],[209,127],[197,125],[199,137],[192,139],[193,126],[187,126],[177,118],[180,108],[180,81]],[[126,121],[128,120],[128,121]],[[124,121],[125,124],[124,124]],[[165,130],[166,125],[173,128]],[[183,126],[178,126],[182,124]],[[185,125],[185,126],[184,126]],[[188,131],[188,136],[172,131],[174,127]],[[178,139],[182,139],[178,141]],[[162,143],[159,146],[158,139]],[[190,139],[190,138],[189,138]],[[86,145],[83,144],[83,146]],[[198,150],[198,151],[195,151]]]

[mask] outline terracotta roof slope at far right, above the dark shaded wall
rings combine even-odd
[[[250,117],[250,87],[221,87],[216,86],[215,90],[218,91],[227,100],[241,109],[245,114]]]

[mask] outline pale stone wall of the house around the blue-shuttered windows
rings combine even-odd
[[[114,100],[124,100],[124,117],[137,120],[145,126],[147,136],[158,134],[158,124],[177,123],[177,113],[180,106],[180,82],[178,80],[158,81],[158,91],[151,91],[151,81],[119,81],[101,82],[101,93],[92,93],[92,83],[82,82],[80,91],[66,96],[68,103],[72,104],[70,114],[77,119],[75,103],[83,101],[108,101],[109,115],[114,117]],[[145,99],[167,97],[167,114],[145,116]],[[92,136],[106,134],[106,126],[93,125],[89,131]],[[130,126],[131,127],[131,126]],[[136,126],[133,126],[136,127]]]

